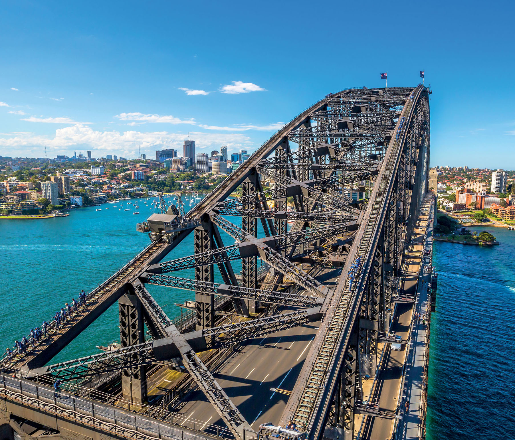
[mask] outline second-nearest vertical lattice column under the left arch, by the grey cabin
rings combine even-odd
[[[195,254],[211,251],[213,245],[213,230],[209,216],[202,218],[200,226],[193,231]],[[204,257],[205,258],[205,257]],[[198,261],[199,266],[195,268],[195,280],[208,281],[213,283],[213,262]],[[195,309],[197,312],[196,329],[215,326],[215,295],[195,292]]]

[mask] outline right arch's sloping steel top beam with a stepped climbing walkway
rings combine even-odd
[[[342,365],[342,355],[338,353],[341,353],[342,348],[348,346],[351,335],[350,329],[352,328],[351,324],[358,315],[359,307],[357,306],[361,304],[362,301],[362,286],[368,278],[369,267],[372,263],[372,258],[370,258],[369,255],[370,252],[375,252],[377,247],[377,237],[379,231],[382,229],[385,206],[387,205],[386,201],[390,200],[389,195],[393,186],[392,178],[394,178],[397,173],[399,156],[406,142],[407,126],[413,117],[416,105],[427,97],[427,92],[420,86],[416,89],[415,95],[415,102],[406,102],[406,106],[402,112],[403,118],[398,120],[396,137],[392,137],[390,140],[390,147],[379,174],[379,181],[374,186],[374,191],[372,192],[371,200],[373,203],[369,202],[368,204],[364,218],[364,230],[361,234],[358,234],[357,241],[355,241],[351,250],[353,258],[359,255],[363,261],[364,267],[359,275],[358,281],[354,284],[354,286],[359,286],[359,289],[355,294],[350,295],[351,292],[347,290],[347,276],[340,277],[338,290],[328,304],[326,313],[328,313],[329,310],[331,310],[334,316],[342,313],[345,319],[340,320],[335,328],[334,343],[328,339],[327,333],[328,331],[332,331],[331,328],[333,325],[324,326],[322,324],[320,326],[319,334],[317,334],[315,338],[316,342],[314,341],[312,345],[310,353],[304,363],[303,371],[292,392],[291,396],[293,398],[290,397],[285,412],[283,413],[282,421],[294,418],[301,429],[307,428],[310,430],[313,438],[319,438],[323,432],[325,417],[327,417],[329,412],[330,402],[336,386],[334,368],[337,368],[337,371],[339,371]],[[348,268],[349,265],[350,261],[348,260],[346,268]],[[344,268],[344,273],[348,270],[346,268]],[[365,274],[367,274],[367,276]],[[346,295],[348,296],[348,301],[345,301]],[[336,350],[336,352],[334,350]],[[314,370],[312,365],[318,365],[322,358],[327,359],[328,362],[325,363],[325,366],[323,366],[323,362],[320,364],[317,373],[319,378],[316,379],[313,375]],[[319,385],[313,388],[312,384],[316,383]]]

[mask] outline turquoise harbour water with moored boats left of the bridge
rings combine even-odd
[[[148,200],[148,205],[153,198]],[[146,220],[157,209],[136,199],[139,215],[124,211],[127,201],[105,203],[68,211],[70,216],[39,220],[0,220],[0,341],[3,352],[14,340],[28,335],[57,310],[77,299],[81,289],[89,292],[109,278],[150,243],[146,233],[136,231],[136,223]],[[169,200],[168,200],[169,201]],[[134,202],[134,200],[132,200]],[[198,202],[198,200],[197,200]],[[106,209],[109,207],[109,209]],[[100,208],[100,211],[96,209]],[[186,202],[186,210],[190,203]],[[233,222],[236,221],[233,219]],[[241,222],[236,223],[241,225]],[[226,245],[234,243],[221,231]],[[166,259],[193,254],[193,234],[185,238]],[[234,270],[239,272],[237,263]],[[215,271],[215,280],[220,281]],[[176,272],[193,276],[193,270]],[[194,299],[194,293],[161,286],[147,286],[170,318],[180,315],[174,303]],[[98,353],[97,345],[119,340],[118,305],[115,303],[89,328],[56,356],[55,361]]]

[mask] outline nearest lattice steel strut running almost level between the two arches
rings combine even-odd
[[[192,290],[204,294],[214,293],[216,295],[231,296],[233,298],[261,301],[271,304],[308,307],[315,304],[321,304],[322,302],[316,295],[306,296],[289,292],[268,291],[243,286],[208,283],[207,281],[197,281],[168,275],[145,273],[142,275],[142,279],[144,279],[148,284]]]

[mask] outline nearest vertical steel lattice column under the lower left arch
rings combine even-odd
[[[118,300],[120,342],[123,347],[145,342],[142,305],[138,296],[125,294]],[[137,354],[131,355],[138,358]],[[147,377],[145,366],[127,368],[122,371],[122,392],[124,399],[133,402],[147,400]]]

